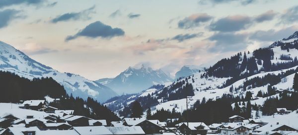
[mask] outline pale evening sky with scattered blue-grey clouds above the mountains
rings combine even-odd
[[[90,80],[209,67],[295,31],[298,0],[0,0],[0,41]]]

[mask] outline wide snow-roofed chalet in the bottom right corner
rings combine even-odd
[[[284,125],[284,124],[267,124],[263,127],[260,127],[256,130],[253,131],[253,135],[264,135],[266,133],[269,132],[277,132],[277,131],[298,131],[297,129],[294,129],[288,125]]]

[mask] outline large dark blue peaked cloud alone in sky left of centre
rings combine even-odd
[[[84,29],[80,30],[74,36],[68,36],[66,41],[76,39],[77,37],[88,37],[97,38],[101,37],[104,39],[110,39],[117,36],[123,36],[125,32],[120,28],[112,28],[109,25],[105,25],[100,21],[89,24]]]

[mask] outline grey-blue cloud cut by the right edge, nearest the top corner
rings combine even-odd
[[[298,21],[298,5],[289,8],[282,16],[281,23],[289,24]]]

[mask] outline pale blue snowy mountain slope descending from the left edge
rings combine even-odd
[[[99,83],[87,80],[72,73],[60,73],[51,67],[45,66],[13,46],[0,42],[0,70],[15,73],[28,79],[52,77],[73,96],[86,99],[88,96],[100,102],[117,95],[110,88]]]

